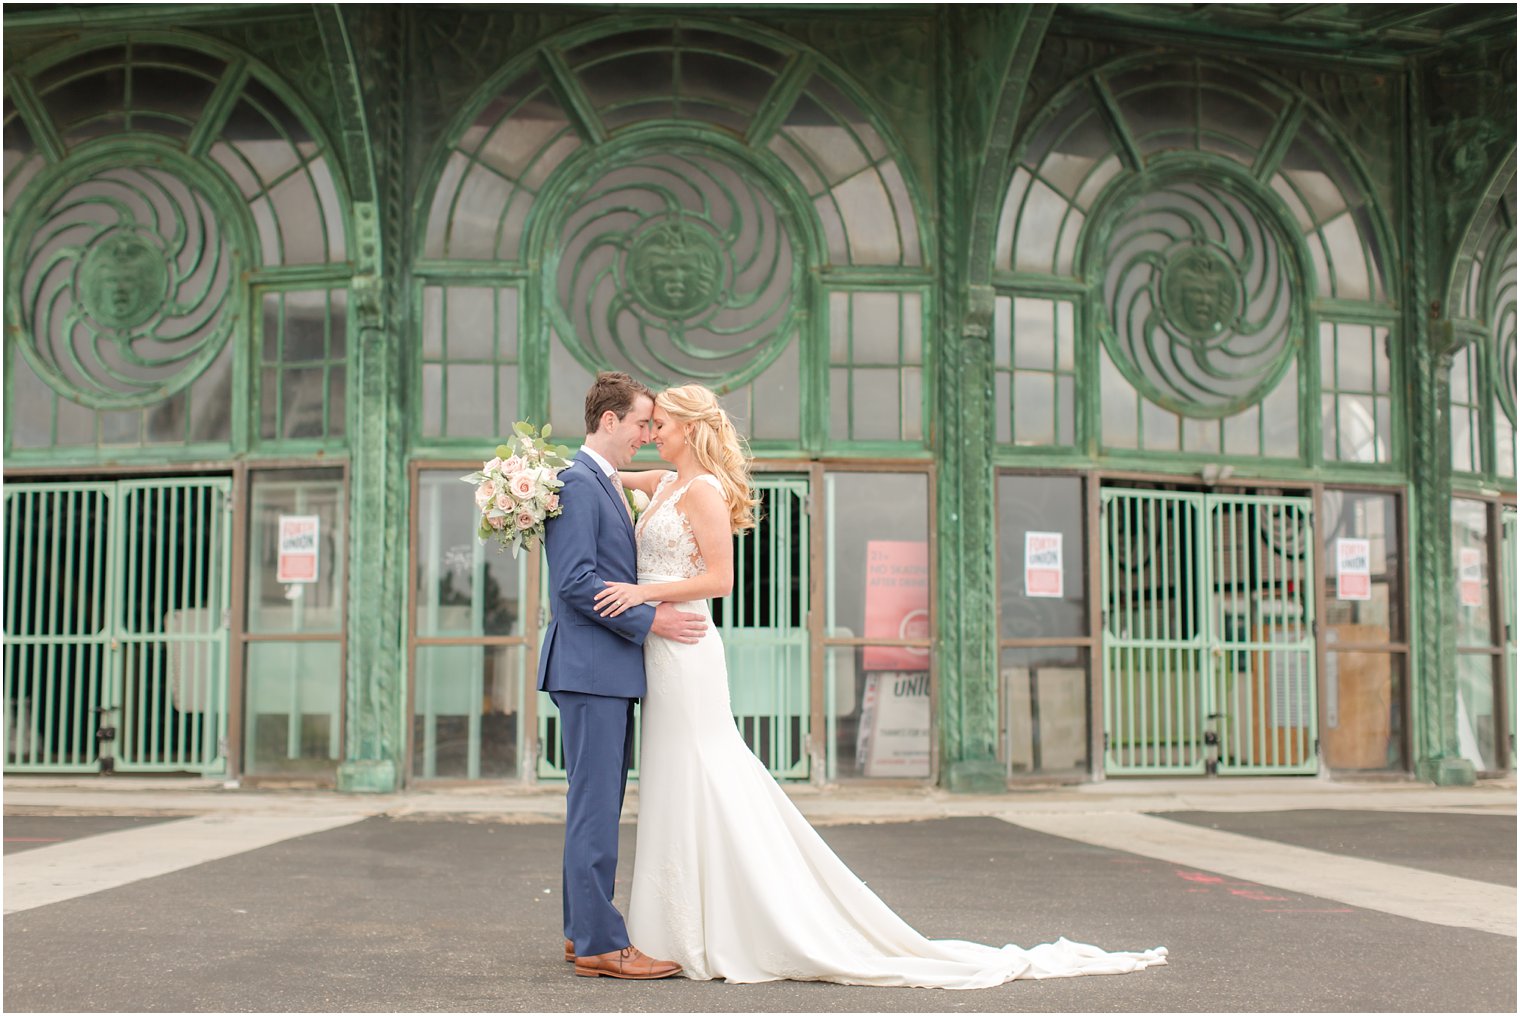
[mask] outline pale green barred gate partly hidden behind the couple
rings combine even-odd
[[[734,592],[713,602],[734,722],[777,779],[806,780],[809,735],[807,479],[752,478],[758,525],[734,537]],[[544,596],[544,602],[549,598]],[[637,725],[635,725],[637,730]],[[538,695],[540,779],[564,779],[559,710]],[[634,742],[637,774],[638,742]]]

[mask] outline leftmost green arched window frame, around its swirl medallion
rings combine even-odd
[[[192,85],[195,81],[202,82],[205,97],[199,113],[187,117],[147,105],[157,100],[141,99],[147,88],[138,90],[138,97],[132,99],[131,88],[122,88],[117,94],[111,88],[90,84],[90,78],[102,73],[120,73],[125,82],[137,81],[140,70],[181,73],[182,81]],[[93,105],[73,117],[55,116],[58,103],[52,96],[62,94],[70,85],[82,85],[82,102]],[[257,158],[249,158],[239,143],[254,138],[233,138],[226,134],[234,114],[261,117],[269,134],[290,149],[284,158],[287,164],[275,167],[266,161],[258,166]],[[29,216],[38,213],[35,205],[62,193],[73,167],[84,170],[74,173],[73,183],[79,183],[88,179],[88,172],[109,167],[112,160],[163,164],[170,173],[178,169],[210,187],[220,202],[216,205],[219,224],[230,234],[237,254],[245,259],[239,277],[230,283],[228,300],[234,304],[234,322],[225,347],[184,389],[158,403],[120,412],[81,406],[64,392],[36,385],[33,394],[40,394],[47,403],[41,409],[50,418],[49,440],[18,447],[9,408],[14,403],[8,400],[6,453],[14,461],[24,464],[40,458],[49,464],[67,464],[102,456],[172,461],[233,452],[257,455],[261,449],[289,455],[345,447],[347,408],[340,397],[330,400],[328,392],[340,395],[347,371],[347,342],[342,338],[334,341],[333,336],[344,330],[342,309],[347,306],[353,277],[351,199],[336,146],[278,73],[233,46],[192,32],[90,32],[41,50],[12,68],[8,75],[3,119],[8,272],[20,268],[17,262],[24,245],[20,233]],[[12,146],[12,138],[24,138],[26,148]],[[12,151],[24,154],[12,155]],[[264,158],[272,155],[266,152]],[[52,169],[58,166],[62,167]],[[296,221],[319,225],[316,246],[292,246],[292,240],[304,242],[301,231],[292,227]],[[296,301],[319,297],[325,315],[322,348],[319,354],[312,354],[310,350],[302,353],[299,367],[292,367],[278,345],[269,345],[271,341],[278,342],[278,336],[271,336],[261,307],[271,300],[283,306],[289,297]],[[18,313],[15,307],[8,309],[11,324],[17,327]],[[272,321],[278,332],[281,319]],[[6,356],[14,367],[21,350],[8,341]],[[226,440],[196,440],[195,421],[190,418],[195,411],[190,409],[181,412],[185,417],[182,441],[150,440],[147,414],[161,414],[181,394],[195,397],[193,389],[213,371],[226,377],[226,391],[201,391],[198,398],[201,406],[214,403],[217,412],[230,415],[225,424]],[[321,418],[316,433],[289,438],[271,433],[268,418],[281,418],[280,406],[289,402],[287,385],[293,371],[321,374],[315,385],[307,385],[319,395]],[[12,376],[14,371],[8,370],[8,388]],[[266,403],[274,406],[272,412],[266,412]],[[102,415],[105,412],[112,415]],[[61,414],[71,423],[61,426]],[[111,427],[131,424],[122,417],[134,414],[140,417],[132,424],[137,438],[112,440]],[[91,437],[61,440],[61,430],[68,429],[81,435],[88,430]],[[312,429],[307,420],[306,430]]]

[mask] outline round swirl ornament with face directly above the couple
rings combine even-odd
[[[606,160],[553,227],[555,330],[591,370],[719,391],[763,371],[796,332],[801,259],[754,169],[711,148]]]

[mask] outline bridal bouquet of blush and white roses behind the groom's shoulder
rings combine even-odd
[[[544,520],[561,513],[559,470],[570,465],[570,449],[549,444],[549,424],[535,430],[526,421],[512,424],[512,437],[496,446],[496,458],[479,473],[461,476],[476,487],[482,540],[494,538],[512,557],[532,551],[544,538]]]

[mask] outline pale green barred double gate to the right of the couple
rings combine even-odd
[[[1315,773],[1312,500],[1102,491],[1104,771]]]

